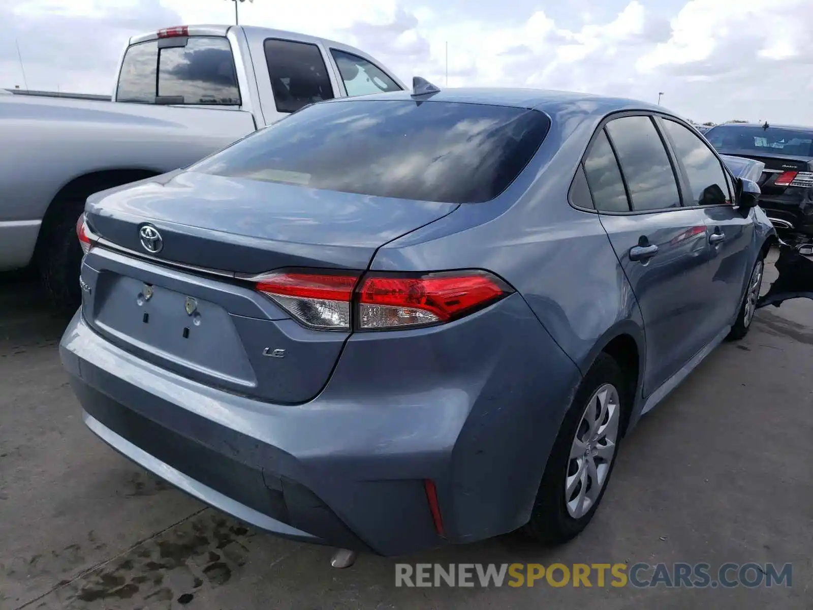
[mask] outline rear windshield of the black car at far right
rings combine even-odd
[[[813,157],[813,130],[720,125],[706,132],[706,139],[717,150]]]

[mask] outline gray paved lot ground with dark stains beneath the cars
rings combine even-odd
[[[508,535],[401,560],[792,563],[793,586],[770,589],[403,589],[395,560],[331,569],[329,549],[246,528],[93,437],[59,364],[65,321],[33,281],[0,277],[2,610],[813,608],[811,301],[760,310],[641,421],[567,547]]]

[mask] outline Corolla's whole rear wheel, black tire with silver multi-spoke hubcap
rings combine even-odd
[[[624,375],[601,354],[582,380],[564,417],[524,531],[546,544],[567,542],[585,529],[615,465],[627,407]]]

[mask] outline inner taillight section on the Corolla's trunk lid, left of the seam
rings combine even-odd
[[[327,272],[279,272],[263,277],[256,288],[305,325],[350,330],[350,301],[358,275]]]

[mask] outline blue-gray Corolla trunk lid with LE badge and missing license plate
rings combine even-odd
[[[362,272],[379,246],[456,207],[193,172],[108,190],[86,207],[96,246],[81,272],[83,313],[116,346],[174,373],[302,403],[328,381],[350,332],[306,328],[241,278]],[[146,225],[159,251],[142,244]]]

